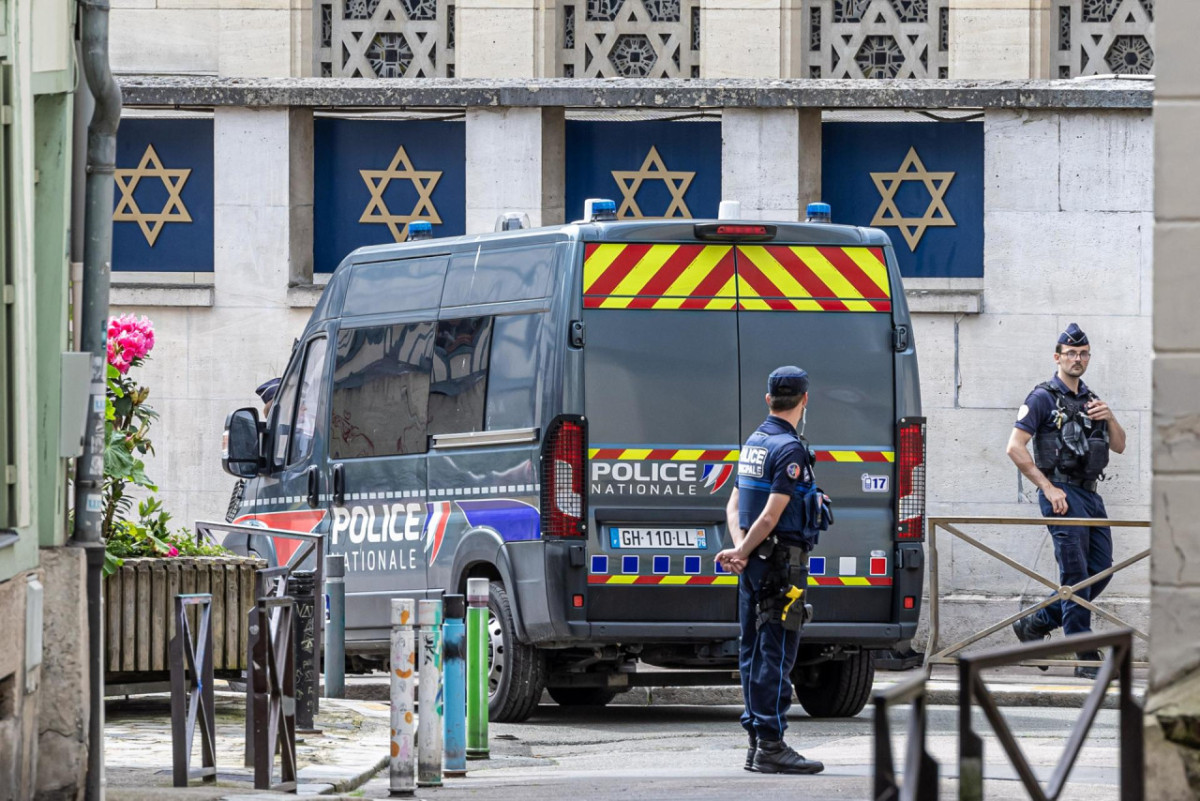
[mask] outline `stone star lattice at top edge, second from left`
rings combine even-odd
[[[559,19],[563,77],[700,77],[700,0],[566,0]]]

